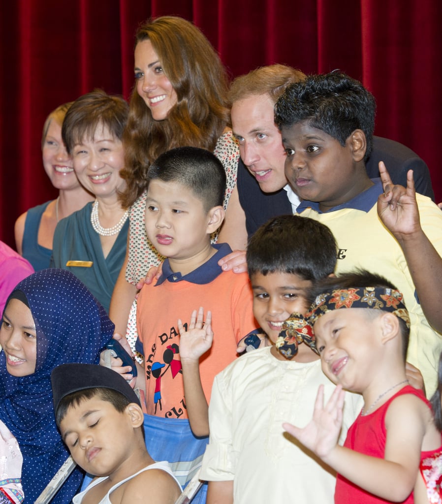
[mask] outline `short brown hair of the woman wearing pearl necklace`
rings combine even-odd
[[[114,139],[121,140],[128,121],[129,104],[121,96],[108,95],[102,89],[77,98],[66,113],[61,137],[69,154],[85,138],[93,138],[99,125]]]

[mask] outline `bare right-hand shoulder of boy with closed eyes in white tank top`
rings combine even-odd
[[[143,471],[124,485],[120,504],[173,504],[181,489],[162,469]]]

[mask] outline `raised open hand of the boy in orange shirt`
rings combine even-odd
[[[208,311],[204,321],[204,308],[200,306],[192,312],[191,322],[185,330],[181,319],[178,319],[179,355],[182,360],[199,360],[213,342],[212,312]]]

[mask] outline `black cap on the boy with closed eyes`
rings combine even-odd
[[[51,373],[54,411],[65,396],[86,389],[111,389],[139,406],[140,400],[132,387],[117,372],[97,364],[61,364]]]

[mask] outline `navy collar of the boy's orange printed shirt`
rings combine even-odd
[[[186,282],[204,285],[212,282],[215,278],[222,273],[222,269],[218,266],[218,261],[222,259],[227,254],[230,254],[232,249],[227,243],[212,243],[213,248],[217,249],[216,254],[214,254],[208,261],[202,264],[199,268],[187,275],[181,275],[181,273],[173,272],[170,269],[169,260],[166,259],[163,263],[162,271],[160,278],[158,279],[157,285],[161,285],[164,281],[168,280],[169,282],[176,283],[181,280],[185,280]]]

